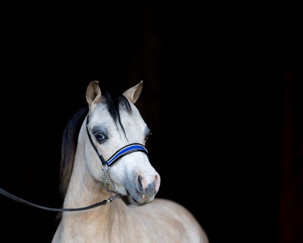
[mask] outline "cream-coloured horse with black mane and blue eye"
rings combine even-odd
[[[150,131],[134,106],[141,89],[142,82],[121,95],[102,94],[98,82],[91,82],[86,91],[89,109],[73,117],[62,143],[64,208],[95,204],[112,192],[127,196],[131,205],[118,198],[94,209],[64,212],[52,242],[208,242],[185,208],[155,199],[160,175],[144,147]],[[141,150],[109,166],[109,158],[129,146]]]

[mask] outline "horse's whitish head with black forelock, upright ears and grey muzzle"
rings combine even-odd
[[[88,170],[95,180],[104,181],[98,154],[108,160],[129,144],[145,145],[150,130],[134,105],[141,90],[142,82],[123,94],[102,94],[97,81],[88,85],[86,100],[89,120],[84,154]],[[150,203],[159,190],[160,175],[143,152],[128,153],[106,170],[115,191],[127,195],[133,205]],[[110,187],[109,183],[105,185]]]

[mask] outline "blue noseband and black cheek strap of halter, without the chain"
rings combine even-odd
[[[120,148],[117,152],[115,152],[108,160],[105,160],[104,157],[99,154],[98,149],[96,148],[95,144],[92,141],[92,138],[90,136],[89,130],[88,130],[88,115],[87,115],[87,119],[86,119],[86,131],[87,131],[87,135],[89,138],[89,141],[91,143],[91,145],[93,146],[94,150],[96,151],[96,153],[99,156],[99,159],[102,162],[102,165],[107,165],[108,167],[110,167],[115,161],[117,161],[119,158],[123,157],[126,154],[132,153],[132,152],[143,152],[145,154],[147,154],[147,149],[140,143],[132,143],[132,144],[128,144],[126,146],[124,146],[123,148]]]

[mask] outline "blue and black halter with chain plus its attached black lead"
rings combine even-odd
[[[88,130],[88,122],[89,122],[89,120],[88,120],[88,115],[87,115],[87,118],[86,118],[86,131],[87,131],[87,135],[88,135],[88,138],[89,138],[89,141],[90,141],[91,145],[93,146],[94,150],[96,151],[96,153],[98,154],[98,156],[99,156],[99,158],[100,158],[100,160],[102,162],[102,171],[103,171],[103,183],[104,183],[104,186],[105,186],[105,188],[109,192],[116,193],[115,196],[112,196],[112,197],[110,197],[108,199],[100,201],[100,203],[96,203],[96,204],[93,204],[93,205],[90,205],[90,206],[87,206],[87,207],[83,207],[83,208],[56,209],[56,208],[48,208],[48,207],[43,207],[43,206],[40,206],[40,205],[36,205],[36,204],[30,203],[29,201],[26,201],[26,200],[24,200],[24,199],[22,199],[22,198],[20,198],[18,196],[15,196],[15,195],[7,192],[6,190],[4,190],[2,188],[0,188],[0,194],[4,195],[4,196],[6,196],[6,197],[8,197],[8,198],[10,198],[12,200],[18,201],[21,204],[25,204],[25,205],[28,205],[28,206],[31,206],[31,207],[34,207],[34,208],[44,209],[44,210],[48,210],[48,211],[55,211],[55,212],[62,212],[62,211],[82,211],[82,210],[92,209],[92,208],[96,208],[98,206],[110,203],[114,199],[120,198],[122,195],[116,190],[115,185],[112,182],[112,180],[111,180],[111,178],[110,178],[110,176],[108,174],[108,171],[109,171],[111,165],[113,165],[119,158],[123,157],[126,154],[132,153],[132,152],[143,152],[143,153],[147,154],[148,153],[147,149],[142,144],[132,143],[132,144],[124,146],[123,148],[120,148],[117,152],[115,152],[113,154],[113,156],[111,156],[108,160],[105,160],[104,157],[101,154],[99,154],[98,149],[96,148],[95,144],[92,141],[92,138],[91,138],[91,136],[89,134],[89,130]],[[108,166],[107,169],[104,169],[105,165]],[[110,190],[107,187],[107,184],[106,184],[106,180],[107,179],[111,183],[111,186],[114,189],[114,191]]]

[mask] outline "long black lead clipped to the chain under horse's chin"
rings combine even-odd
[[[113,197],[110,197],[106,200],[103,200],[103,201],[100,201],[100,203],[97,203],[97,204],[93,204],[93,205],[90,205],[90,206],[87,206],[87,207],[83,207],[83,208],[75,208],[75,209],[54,209],[54,208],[47,208],[47,207],[43,207],[43,206],[40,206],[40,205],[36,205],[36,204],[33,204],[33,203],[30,203],[29,201],[27,200],[24,200],[18,196],[15,196],[9,192],[7,192],[6,190],[0,188],[0,194],[14,200],[14,201],[18,201],[18,203],[21,203],[21,204],[25,204],[27,206],[31,206],[31,207],[34,207],[34,208],[38,208],[38,209],[44,209],[44,210],[48,210],[48,211],[55,211],[55,212],[63,212],[63,211],[82,211],[82,210],[87,210],[87,209],[93,209],[93,208],[96,208],[96,207],[99,207],[101,205],[105,205],[107,203],[110,203],[112,200],[115,200],[117,198],[120,198],[122,197],[121,194],[119,195],[116,195],[116,196],[113,196]]]

